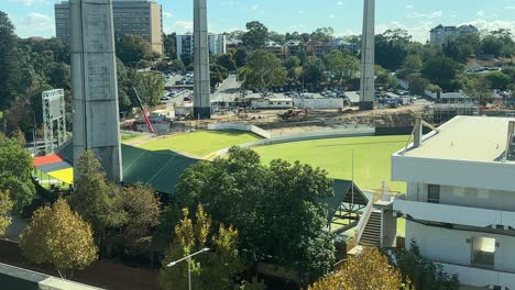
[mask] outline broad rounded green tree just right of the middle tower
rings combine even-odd
[[[286,69],[273,54],[256,51],[246,59],[238,77],[245,89],[265,90],[282,87],[286,82]]]

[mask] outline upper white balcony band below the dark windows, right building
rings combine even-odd
[[[478,227],[515,228],[515,212],[406,200],[397,197],[393,209],[415,220]]]

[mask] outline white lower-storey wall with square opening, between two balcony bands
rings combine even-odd
[[[406,221],[406,248],[412,238],[417,241],[423,256],[442,263],[470,266],[472,259],[472,238],[495,238],[498,246],[494,254],[494,268],[497,271],[515,274],[515,237],[491,233],[457,231],[426,226]]]

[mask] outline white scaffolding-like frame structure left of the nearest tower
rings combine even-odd
[[[45,154],[54,153],[54,125],[56,124],[57,145],[66,142],[66,111],[64,90],[48,90],[42,93]]]

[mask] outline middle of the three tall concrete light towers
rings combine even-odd
[[[206,0],[194,0],[194,116],[211,118]]]

